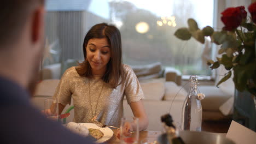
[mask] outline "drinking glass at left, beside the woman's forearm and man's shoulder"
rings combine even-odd
[[[57,100],[53,98],[45,99],[43,113],[47,118],[57,122],[59,118],[59,105]]]

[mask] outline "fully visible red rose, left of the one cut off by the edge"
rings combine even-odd
[[[226,31],[236,29],[242,22],[242,14],[240,8],[227,8],[222,12],[222,22]]]

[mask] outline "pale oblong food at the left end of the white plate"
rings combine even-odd
[[[73,131],[74,133],[77,133],[79,135],[82,136],[88,136],[89,135],[89,130],[87,127],[85,127],[84,125],[80,125],[74,122],[69,122],[66,127]]]

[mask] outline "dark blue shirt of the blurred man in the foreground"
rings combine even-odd
[[[24,88],[1,76],[0,97],[0,143],[94,143],[46,119]]]

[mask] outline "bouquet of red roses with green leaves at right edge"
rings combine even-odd
[[[214,62],[208,60],[211,69],[216,69],[224,65],[228,73],[225,74],[217,86],[228,80],[233,74],[235,88],[242,92],[248,91],[256,95],[256,2],[248,7],[251,14],[247,20],[245,7],[227,8],[222,12],[221,20],[224,23],[222,31],[214,31],[210,26],[199,29],[193,19],[188,20],[188,28],[179,28],[175,35],[182,40],[195,38],[200,43],[205,43],[205,37],[210,37],[211,41],[221,45],[218,53],[222,57],[217,57]]]

